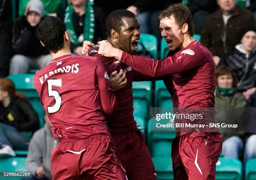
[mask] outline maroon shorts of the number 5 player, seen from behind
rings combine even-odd
[[[112,144],[108,135],[62,140],[51,153],[52,180],[126,180]]]

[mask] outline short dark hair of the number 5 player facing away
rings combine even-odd
[[[38,38],[48,51],[56,53],[64,47],[66,26],[58,17],[48,16],[38,26]]]

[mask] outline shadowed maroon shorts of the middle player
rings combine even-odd
[[[140,130],[112,133],[111,136],[128,180],[156,180],[156,170]]]

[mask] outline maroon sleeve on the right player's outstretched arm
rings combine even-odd
[[[205,53],[186,49],[174,56],[169,56],[162,60],[154,60],[141,56],[130,55],[123,52],[121,62],[131,66],[134,70],[148,76],[159,77],[178,74],[199,67],[204,63]]]

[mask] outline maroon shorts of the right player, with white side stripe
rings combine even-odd
[[[172,142],[174,180],[215,180],[222,149],[220,133],[192,132]]]

